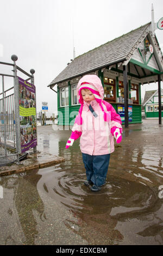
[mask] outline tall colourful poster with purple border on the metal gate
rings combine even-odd
[[[18,77],[21,153],[36,147],[36,95],[35,86]]]

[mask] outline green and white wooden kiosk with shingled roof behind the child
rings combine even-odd
[[[125,127],[141,123],[141,84],[158,82],[160,88],[162,72],[162,52],[151,22],[74,58],[48,85],[53,90],[57,86],[59,125],[73,125],[80,107],[76,87],[86,74],[101,78],[104,100]]]

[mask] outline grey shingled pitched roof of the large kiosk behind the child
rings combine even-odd
[[[151,22],[78,56],[48,86],[126,60],[149,25]]]

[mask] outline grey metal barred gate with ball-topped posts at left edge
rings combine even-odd
[[[13,75],[1,74],[2,86],[0,82],[0,166],[8,163],[19,163],[27,153],[21,154],[20,147],[20,116],[19,116],[19,88],[17,83],[17,71],[28,76],[26,81],[30,80],[34,84],[34,69],[28,74],[16,65],[17,56],[12,55],[13,64],[0,62],[2,65],[12,66]],[[1,71],[0,71],[1,72]],[[12,79],[12,85],[8,88],[5,79]],[[36,147],[34,148],[36,152]]]

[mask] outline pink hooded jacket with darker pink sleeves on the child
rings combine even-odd
[[[99,96],[91,101],[91,106],[97,114],[93,116],[89,105],[80,94],[81,84],[89,83],[96,88]],[[80,89],[79,89],[80,88]],[[96,75],[86,75],[82,77],[77,86],[78,99],[81,103],[79,114],[76,117],[72,132],[76,132],[80,137],[80,150],[89,155],[105,155],[114,151],[114,136],[110,130],[116,126],[122,129],[120,115],[118,115],[110,103],[103,100],[104,89],[101,80]]]

